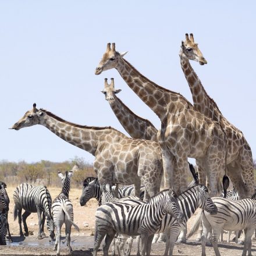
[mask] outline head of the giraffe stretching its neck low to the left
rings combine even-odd
[[[25,115],[10,129],[19,130],[24,127],[38,125],[38,123],[40,123],[40,119],[45,115],[45,113],[40,109],[37,109],[36,106],[37,105],[34,103],[33,109],[27,111]]]

